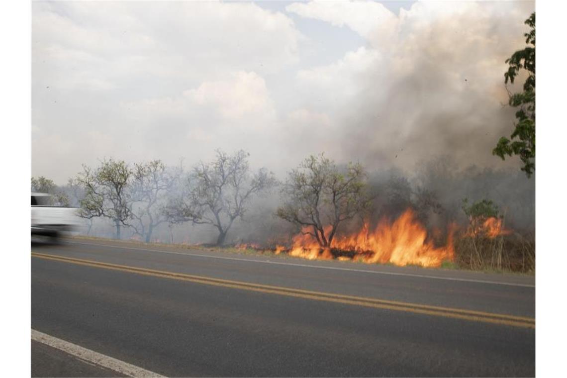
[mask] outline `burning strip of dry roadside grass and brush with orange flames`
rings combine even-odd
[[[290,247],[240,244],[236,248],[272,252],[307,260],[338,260],[365,264],[442,267],[490,271],[535,271],[535,241],[503,226],[501,218],[471,222],[459,232],[448,226],[445,245],[437,246],[425,227],[408,209],[393,222],[382,219],[374,229],[365,223],[350,235],[336,236],[331,248],[321,248],[307,228],[295,235]]]

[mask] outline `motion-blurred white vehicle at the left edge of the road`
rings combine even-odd
[[[47,193],[32,193],[32,236],[53,239],[76,226],[75,207],[56,206],[56,200]]]

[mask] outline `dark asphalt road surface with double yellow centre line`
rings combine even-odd
[[[534,277],[75,239],[31,287],[32,329],[165,376],[535,376]]]

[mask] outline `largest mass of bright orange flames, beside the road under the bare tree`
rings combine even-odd
[[[290,256],[307,258],[308,260],[331,260],[331,249],[349,252],[349,256],[339,256],[339,260],[355,260],[368,264],[440,266],[445,260],[454,260],[455,251],[452,237],[455,227],[448,230],[447,245],[435,248],[433,241],[428,239],[427,231],[415,219],[413,211],[406,210],[392,224],[382,219],[374,231],[369,230],[365,223],[362,230],[354,235],[335,237],[331,248],[321,248],[314,236],[304,229],[293,237]],[[325,228],[325,235],[331,231],[331,226]]]

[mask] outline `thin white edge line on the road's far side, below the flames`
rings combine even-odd
[[[120,245],[113,244],[101,244],[101,243],[81,243],[78,241],[69,241],[74,244],[83,245],[102,245],[103,247],[113,247],[122,249],[133,249],[133,250],[144,250],[147,252],[157,252],[157,253],[169,253],[169,254],[180,254],[181,256],[194,256],[194,257],[206,257],[206,258],[220,258],[222,260],[236,260],[236,261],[249,261],[249,262],[260,262],[262,264],[277,264],[277,265],[291,265],[291,266],[303,266],[311,267],[315,269],[331,269],[331,270],[346,270],[346,271],[358,271],[362,273],[372,273],[372,274],[386,274],[386,275],[401,275],[406,277],[418,277],[418,278],[431,278],[431,279],[445,279],[447,281],[462,281],[462,282],[476,282],[476,283],[488,283],[496,285],[505,286],[519,286],[519,287],[534,287],[535,285],[524,284],[524,283],[511,283],[511,282],[498,282],[498,281],[485,281],[482,279],[468,279],[468,278],[454,278],[454,277],[439,277],[437,275],[425,275],[425,274],[411,274],[411,273],[394,273],[391,271],[375,271],[375,270],[363,270],[363,269],[350,269],[348,267],[336,267],[336,266],[320,266],[320,265],[308,265],[308,264],[291,264],[289,262],[280,261],[270,261],[270,260],[252,260],[249,258],[238,258],[238,257],[225,257],[225,256],[211,256],[209,254],[198,254],[198,253],[183,253],[183,252],[173,252],[171,250],[159,250],[159,249],[147,249],[147,248],[134,248],[134,247],[122,247]]]

